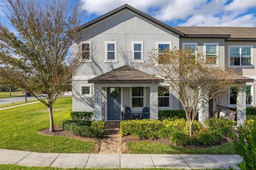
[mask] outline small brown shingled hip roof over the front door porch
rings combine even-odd
[[[148,73],[123,65],[117,69],[101,74],[88,80],[89,83],[156,83],[164,82],[164,79],[154,77]]]

